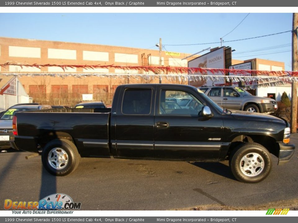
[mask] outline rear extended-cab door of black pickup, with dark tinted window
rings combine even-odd
[[[154,158],[156,85],[124,85],[117,89],[111,114],[112,153],[124,158]],[[114,99],[115,100],[115,99]]]

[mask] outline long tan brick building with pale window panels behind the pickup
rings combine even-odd
[[[157,49],[157,47],[156,47]],[[183,58],[190,54],[162,51],[162,66],[187,67]],[[105,46],[95,44],[55,42],[31,39],[16,39],[0,37],[0,64],[60,64],[60,65],[119,65],[119,66],[158,66],[159,50],[139,49],[121,46]],[[143,71],[123,69],[84,69],[60,67],[20,67],[9,65],[0,68],[1,73],[128,73],[136,74]],[[3,75],[2,75],[3,76]],[[7,79],[7,77],[2,77]],[[4,80],[3,79],[3,80]],[[52,104],[74,104],[82,100],[81,94],[93,94],[93,100],[103,100],[111,103],[115,88],[124,83],[158,83],[159,80],[108,78],[108,77],[50,77],[20,76],[20,82],[28,94],[41,102],[46,98]],[[0,82],[0,85],[4,84]],[[56,100],[54,100],[56,98]],[[45,103],[45,101],[43,102]]]

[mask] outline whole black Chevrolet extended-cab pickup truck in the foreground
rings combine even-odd
[[[176,102],[192,98],[193,103],[180,107],[169,98],[176,98]],[[16,113],[13,146],[41,152],[44,167],[56,176],[74,171],[80,157],[228,159],[233,175],[248,183],[268,176],[271,154],[283,164],[295,150],[288,144],[290,128],[286,120],[223,109],[192,86],[120,85],[109,111],[52,109]]]

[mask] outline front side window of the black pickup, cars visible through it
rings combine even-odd
[[[160,115],[197,115],[202,110],[202,107],[204,107],[203,103],[187,92],[161,91],[159,104]]]

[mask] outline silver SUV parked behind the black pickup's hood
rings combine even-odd
[[[277,110],[272,98],[257,97],[241,87],[200,87],[206,95],[221,107],[247,112],[271,113]]]

